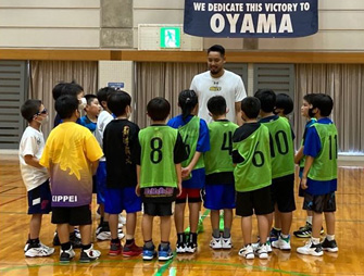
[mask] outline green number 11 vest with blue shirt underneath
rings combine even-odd
[[[328,117],[319,118],[307,129],[303,153],[314,158],[307,175],[311,195],[326,195],[337,190],[338,133]]]

